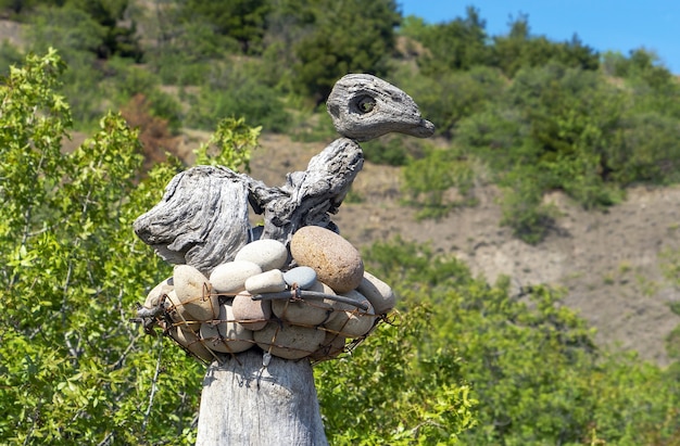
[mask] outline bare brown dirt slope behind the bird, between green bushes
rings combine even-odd
[[[253,154],[254,178],[279,186],[288,171],[304,170],[323,143],[297,143],[265,135]],[[465,260],[493,282],[500,275],[518,290],[536,283],[566,286],[565,304],[577,309],[603,345],[635,349],[644,359],[666,364],[666,335],[680,323],[668,302],[680,300],[664,279],[659,253],[680,249],[680,188],[629,191],[628,200],[603,212],[585,212],[559,193],[546,197],[563,216],[543,243],[531,246],[499,226],[500,193],[476,191],[479,205],[439,221],[417,221],[400,204],[400,171],[366,163],[354,182],[360,203],[344,203],[333,219],[355,246],[401,235],[430,243],[439,253]]]

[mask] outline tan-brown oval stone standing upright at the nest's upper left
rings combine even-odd
[[[192,320],[210,320],[219,314],[217,294],[211,290],[207,278],[189,265],[177,265],[173,271],[177,300]]]

